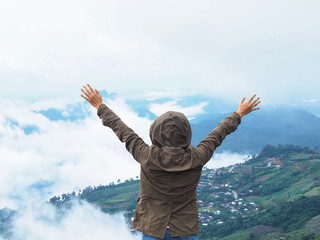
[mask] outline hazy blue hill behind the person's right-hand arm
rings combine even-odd
[[[227,114],[192,124],[192,144],[197,145]],[[266,144],[320,147],[320,118],[295,108],[262,109],[245,116],[238,130],[229,135],[217,152],[258,153]]]

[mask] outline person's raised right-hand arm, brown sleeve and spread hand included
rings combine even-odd
[[[244,102],[244,97],[239,104],[238,111],[231,113],[199,143],[196,149],[202,159],[203,165],[211,159],[213,152],[220,146],[226,136],[238,128],[243,116],[260,109],[257,108],[258,104],[261,102],[259,101],[260,98],[255,97],[256,95],[253,95],[247,102]]]

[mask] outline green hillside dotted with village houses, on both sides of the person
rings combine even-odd
[[[53,197],[77,197],[103,211],[126,213],[139,180],[88,187]],[[228,168],[204,169],[198,187],[200,239],[320,239],[320,153],[291,145],[266,146],[258,156]]]

